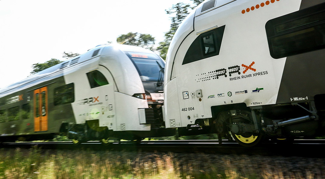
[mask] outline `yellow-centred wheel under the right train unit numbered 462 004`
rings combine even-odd
[[[231,132],[232,137],[238,142],[240,145],[245,147],[253,147],[257,145],[263,138],[261,133],[258,133],[256,136],[253,133],[245,134],[245,135],[236,135]]]

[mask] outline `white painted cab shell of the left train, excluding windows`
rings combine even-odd
[[[148,108],[147,100],[132,97],[145,93],[141,78],[122,50],[153,53],[125,45],[100,46],[99,55],[75,68],[64,70],[66,84],[74,83],[72,109],[76,124],[99,120],[100,127],[113,131],[150,131],[150,124],[140,124],[138,109]],[[98,70],[109,84],[91,89],[86,73]],[[93,99],[90,99],[93,98]],[[84,103],[85,99],[90,99]]]

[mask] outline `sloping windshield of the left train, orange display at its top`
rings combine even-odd
[[[125,52],[135,64],[142,81],[157,81],[165,64],[156,54]]]

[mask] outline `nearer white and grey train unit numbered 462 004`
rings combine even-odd
[[[324,0],[205,0],[168,49],[165,126],[247,147],[322,136],[324,48]]]

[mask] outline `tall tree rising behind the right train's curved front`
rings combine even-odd
[[[168,15],[172,16],[171,17],[172,23],[170,25],[169,31],[165,33],[165,39],[162,42],[160,42],[159,46],[157,47],[160,56],[165,60],[166,60],[168,47],[170,45],[170,42],[172,41],[172,38],[177,28],[185,19],[185,17],[189,14],[189,11],[194,9],[194,7],[199,5],[201,2],[203,2],[203,0],[192,0],[192,1],[193,1],[193,5],[177,3],[173,5],[172,8],[165,10]]]

